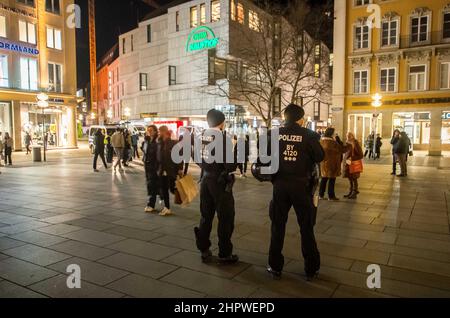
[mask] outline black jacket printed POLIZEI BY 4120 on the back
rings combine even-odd
[[[310,179],[315,165],[325,158],[320,135],[298,124],[282,127],[279,133],[280,168],[275,177]]]

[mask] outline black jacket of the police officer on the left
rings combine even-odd
[[[206,130],[207,132],[208,130]],[[206,153],[206,146],[211,144],[214,141],[213,136],[205,136],[205,132],[201,136],[201,159],[202,162],[199,164],[200,168],[202,169],[202,176],[214,176],[214,177],[220,177],[224,174],[229,174],[232,172],[235,172],[237,169],[237,158],[236,154],[233,152],[233,146],[231,143],[231,138],[227,136],[226,132],[220,132],[223,136],[223,155],[224,158],[220,158],[220,162],[214,162],[214,163],[207,163],[205,162],[205,159],[209,154]],[[227,149],[227,140],[229,143],[231,143],[231,148]],[[227,162],[227,151],[231,151],[233,153],[233,160],[232,162]],[[214,156],[215,153],[210,154],[211,156]]]

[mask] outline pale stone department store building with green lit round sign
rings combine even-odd
[[[205,128],[207,111],[217,108],[238,131],[261,125],[254,108],[233,98],[230,78],[242,74],[244,62],[235,50],[242,29],[257,32],[263,17],[250,1],[175,1],[121,35],[122,117]],[[211,93],[220,81],[227,93]],[[305,109],[326,123],[330,103],[306,103]]]

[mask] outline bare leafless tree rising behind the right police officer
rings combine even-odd
[[[327,16],[311,10],[306,0],[286,6],[258,2],[260,9],[249,11],[248,27],[232,17],[230,55],[237,60],[212,57],[226,63],[225,72],[214,70],[209,81],[214,86],[206,91],[250,107],[270,127],[290,103],[328,99],[329,52],[314,37],[323,32]],[[312,25],[317,29],[310,36],[306,29]]]

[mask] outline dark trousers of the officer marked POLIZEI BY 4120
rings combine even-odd
[[[279,177],[274,181],[273,200],[270,205],[272,220],[272,239],[269,252],[269,265],[275,271],[283,271],[282,254],[286,223],[292,206],[300,225],[302,254],[305,260],[305,272],[314,275],[320,269],[320,254],[314,236],[313,200],[308,189],[308,180]]]

